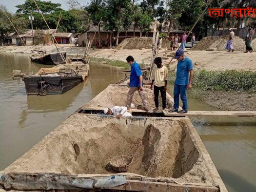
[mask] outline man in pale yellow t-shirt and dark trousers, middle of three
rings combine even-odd
[[[152,71],[152,82],[151,82],[150,89],[153,89],[153,84],[154,84],[154,96],[155,96],[156,108],[153,109],[153,111],[156,112],[159,110],[159,104],[158,104],[159,91],[162,97],[163,110],[166,107],[166,86],[167,86],[167,79],[168,79],[168,69],[167,67],[162,65],[162,58],[160,57],[155,58],[154,63],[157,66],[155,66]]]

